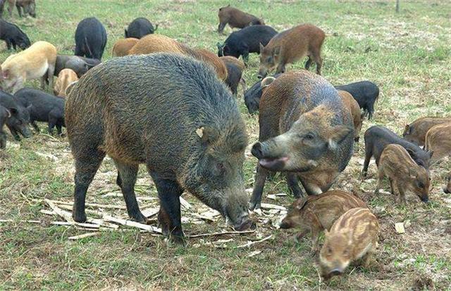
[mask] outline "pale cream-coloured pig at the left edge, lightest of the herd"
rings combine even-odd
[[[41,78],[41,89],[49,79],[49,86],[53,89],[54,70],[56,62],[56,48],[47,41],[37,41],[25,51],[9,56],[1,64],[3,75],[3,89],[16,93],[23,88],[27,79]]]

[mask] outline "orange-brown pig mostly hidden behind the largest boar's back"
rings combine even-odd
[[[227,79],[226,65],[214,53],[202,48],[189,48],[184,44],[180,44],[175,39],[165,37],[161,34],[148,34],[142,37],[129,51],[130,55],[148,53],[181,53],[185,56],[191,56],[214,67],[219,79],[223,81]]]

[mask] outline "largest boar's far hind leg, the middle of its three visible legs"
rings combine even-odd
[[[146,217],[142,215],[135,195],[136,176],[138,174],[137,164],[125,164],[114,160],[118,169],[118,178],[116,183],[121,187],[122,195],[127,206],[128,216],[135,221],[144,222]]]

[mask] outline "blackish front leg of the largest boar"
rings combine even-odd
[[[176,181],[163,179],[155,172],[152,172],[151,176],[160,199],[158,221],[161,229],[175,243],[184,243],[180,215],[180,195],[183,193],[183,188]]]

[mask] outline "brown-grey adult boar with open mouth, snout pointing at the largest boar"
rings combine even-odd
[[[338,92],[319,75],[288,72],[261,96],[259,141],[252,155],[259,159],[250,209],[259,208],[268,171],[286,172],[295,197],[327,191],[349,162],[354,127]],[[271,79],[269,81],[271,81]]]

